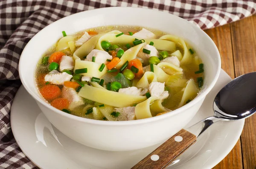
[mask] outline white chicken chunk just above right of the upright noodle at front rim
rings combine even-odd
[[[169,96],[168,91],[164,91],[164,83],[151,82],[149,84],[149,92],[151,96],[156,96],[157,99],[163,100]]]

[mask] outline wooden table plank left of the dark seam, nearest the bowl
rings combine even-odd
[[[221,55],[221,68],[233,79],[235,77],[230,24],[205,31],[216,44]],[[242,169],[240,139],[233,150],[213,169]]]

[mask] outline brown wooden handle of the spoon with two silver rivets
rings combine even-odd
[[[165,169],[195,141],[195,135],[181,129],[131,169]]]

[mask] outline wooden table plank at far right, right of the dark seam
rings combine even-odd
[[[256,15],[231,23],[235,76],[256,71]],[[245,120],[241,134],[244,169],[256,169],[256,115]]]

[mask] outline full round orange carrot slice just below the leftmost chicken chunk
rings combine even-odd
[[[45,99],[52,100],[61,95],[61,89],[55,85],[46,85],[40,89],[40,93]]]

